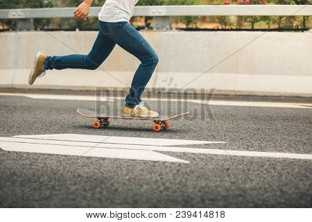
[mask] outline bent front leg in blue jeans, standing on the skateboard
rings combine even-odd
[[[130,24],[124,23],[116,27],[114,23],[110,25],[112,27],[110,38],[141,61],[133,77],[129,94],[125,98],[125,106],[133,108],[141,102],[141,95],[157,66],[158,56],[144,37]]]

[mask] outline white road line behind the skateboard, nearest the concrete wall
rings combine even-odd
[[[54,94],[19,94],[19,93],[0,93],[0,96],[25,96],[31,99],[58,99],[58,100],[77,100],[77,101],[96,101],[96,96],[79,96],[79,95],[54,95]],[[101,101],[114,101],[116,99],[124,99],[116,96],[101,96]],[[311,109],[312,103],[277,103],[277,102],[261,102],[261,101],[217,101],[217,100],[199,100],[199,99],[157,99],[143,98],[146,101],[173,101],[173,102],[190,102],[207,105],[224,105],[239,107],[259,107],[259,108],[300,108]]]

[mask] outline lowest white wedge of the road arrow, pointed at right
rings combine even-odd
[[[54,155],[76,155],[87,157],[105,157],[129,160],[149,160],[162,162],[181,162],[189,163],[169,155],[154,151],[125,150],[119,148],[99,148],[85,146],[60,146],[54,144],[28,144],[17,142],[0,142],[0,147],[4,151],[26,152],[26,153],[45,153]]]

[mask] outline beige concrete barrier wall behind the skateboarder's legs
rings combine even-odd
[[[312,33],[141,31],[159,56],[148,89],[248,95],[312,95]],[[139,60],[116,46],[96,71],[28,74],[37,51],[88,53],[97,32],[0,33],[0,87],[126,90]]]

